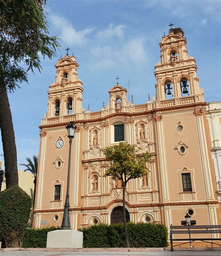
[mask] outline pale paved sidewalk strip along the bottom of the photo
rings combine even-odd
[[[1,256],[221,256],[221,250],[215,251],[159,251],[159,252],[125,252],[125,251],[1,251]]]

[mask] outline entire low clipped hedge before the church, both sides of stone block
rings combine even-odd
[[[41,228],[25,230],[22,247],[45,248],[47,233],[60,228]],[[162,224],[131,223],[127,224],[129,242],[131,247],[166,247],[167,229]],[[124,224],[99,224],[88,228],[80,228],[83,232],[84,248],[113,248],[126,247],[124,237]]]

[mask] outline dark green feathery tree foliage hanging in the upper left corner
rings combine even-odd
[[[45,0],[0,0],[0,77],[14,91],[28,82],[28,70],[40,71],[41,56],[49,59],[59,47],[49,36],[45,21]]]

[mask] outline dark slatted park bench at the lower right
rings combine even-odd
[[[192,242],[194,241],[221,241],[221,238],[194,238],[191,237],[192,234],[220,234],[221,233],[221,225],[183,225],[183,226],[170,226],[170,250],[173,251],[173,247],[179,246],[185,243],[190,243],[190,247],[192,248]],[[189,234],[189,238],[173,238],[173,234]],[[188,241],[183,242],[173,246],[173,242],[175,241]],[[211,244],[220,245],[220,243],[209,242]]]

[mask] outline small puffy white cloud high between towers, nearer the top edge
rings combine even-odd
[[[124,36],[124,25],[115,26],[113,23],[109,24],[108,28],[97,32],[97,39],[109,39],[112,37],[122,38]]]

